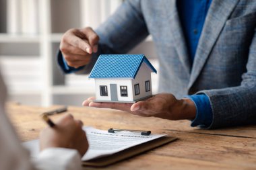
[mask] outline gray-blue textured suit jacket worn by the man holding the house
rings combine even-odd
[[[210,128],[256,123],[256,1],[213,0],[190,62],[174,0],[125,1],[96,32],[98,54],[131,50],[151,34],[160,61],[160,92],[205,93]],[[90,73],[98,54],[80,73]]]

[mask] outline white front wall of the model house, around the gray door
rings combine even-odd
[[[117,84],[117,97],[119,101],[133,101],[133,87],[131,79],[95,79],[96,99],[103,101],[110,101],[110,84]],[[100,85],[106,85],[108,89],[108,96],[100,96]],[[120,86],[127,86],[127,97],[121,97]]]

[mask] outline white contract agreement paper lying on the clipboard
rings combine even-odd
[[[89,149],[86,155],[82,157],[82,161],[112,155],[123,151],[126,148],[166,135],[150,134],[149,136],[143,136],[141,134],[128,131],[109,133],[107,130],[98,130],[92,127],[86,127],[84,130],[86,131],[88,138]]]

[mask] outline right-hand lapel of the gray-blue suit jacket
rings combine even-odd
[[[189,81],[189,88],[195,83],[195,80],[199,76],[203,65],[210,55],[212,48],[226,23],[226,20],[230,16],[238,0],[232,1],[212,1],[210,9],[205,18],[205,24],[201,33],[199,43],[197,45],[197,51],[195,59],[193,61],[193,67],[191,70],[191,77]]]

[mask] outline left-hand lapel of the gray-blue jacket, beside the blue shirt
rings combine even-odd
[[[166,0],[164,4],[166,4],[164,5],[164,12],[168,13],[168,21],[166,21],[166,24],[168,24],[167,26],[170,28],[174,46],[184,67],[184,71],[190,75],[191,61],[187,52],[187,44],[181,27],[176,0]]]

